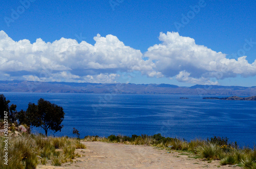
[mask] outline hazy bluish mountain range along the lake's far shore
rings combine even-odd
[[[192,94],[192,95],[256,95],[256,86],[195,85],[179,87],[170,84],[101,84],[69,82],[0,81],[0,92],[61,92],[117,94]]]

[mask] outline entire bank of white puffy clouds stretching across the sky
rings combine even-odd
[[[94,40],[94,45],[65,38],[31,43],[14,41],[0,31],[0,80],[116,83],[119,73],[140,71],[149,78],[218,84],[218,79],[256,75],[256,60],[250,64],[246,56],[227,59],[176,32],[160,33],[162,43],[149,47],[144,55],[113,35],[98,34]]]

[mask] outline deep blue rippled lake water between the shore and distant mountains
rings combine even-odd
[[[161,133],[186,140],[216,135],[250,147],[256,143],[255,101],[203,100],[200,95],[2,93],[18,111],[40,98],[62,106],[64,127],[61,132],[50,132],[55,136],[74,136],[75,127],[81,138]],[[32,132],[44,133],[39,128]]]

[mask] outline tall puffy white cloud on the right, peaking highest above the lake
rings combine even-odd
[[[193,38],[180,36],[177,32],[160,33],[159,40],[162,43],[148,48],[145,57],[154,61],[156,71],[166,77],[176,76],[180,82],[217,84],[210,78],[256,75],[256,60],[250,64],[246,56],[228,59],[226,54],[198,45]]]

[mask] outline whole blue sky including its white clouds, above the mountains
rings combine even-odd
[[[256,84],[255,1],[12,0],[0,8],[0,80]]]

